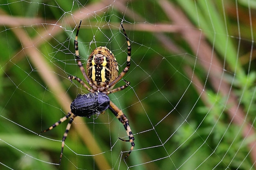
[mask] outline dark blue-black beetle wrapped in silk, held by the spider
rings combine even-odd
[[[77,95],[71,103],[71,112],[76,116],[88,117],[99,115],[101,112],[108,109],[110,99],[108,95],[100,92],[87,93]]]

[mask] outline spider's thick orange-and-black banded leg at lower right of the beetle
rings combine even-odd
[[[132,134],[132,130],[129,126],[129,121],[126,117],[126,115],[124,115],[124,113],[122,112],[122,110],[120,110],[113,102],[110,101],[110,106],[109,106],[109,109],[112,111],[112,113],[117,117],[117,119],[124,125],[124,128],[126,130],[126,133],[127,135],[129,136],[129,140],[124,140],[124,139],[121,139],[122,141],[128,141],[131,143],[131,148],[130,148],[130,151],[128,152],[128,154],[126,155],[126,157],[124,157],[124,160],[130,155],[130,153],[132,152],[134,146],[135,146],[135,143],[134,143],[134,137],[133,137],[133,134]]]

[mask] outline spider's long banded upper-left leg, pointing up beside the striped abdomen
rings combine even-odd
[[[79,33],[80,26],[81,26],[81,22],[82,22],[82,20],[79,23],[79,26],[78,26],[77,32],[76,32],[76,38],[74,40],[76,62],[77,62],[78,66],[79,66],[79,68],[80,68],[80,70],[83,74],[83,77],[85,77],[86,82],[88,82],[88,84],[92,87],[93,84],[92,84],[90,78],[88,77],[88,75],[85,73],[85,68],[83,67],[83,64],[81,62],[81,57],[79,55],[79,50],[78,50],[78,41],[77,41],[77,39],[78,39],[78,33]]]

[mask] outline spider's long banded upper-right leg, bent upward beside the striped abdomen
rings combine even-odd
[[[130,41],[127,37],[127,34],[126,34],[126,31],[124,30],[124,26],[123,24],[121,23],[121,26],[122,26],[122,29],[124,31],[124,35],[125,35],[125,38],[126,38],[126,41],[127,41],[127,45],[128,45],[128,48],[127,48],[127,60],[126,60],[126,67],[124,68],[124,70],[119,74],[119,76],[113,81],[111,82],[110,84],[108,84],[106,86],[106,88],[110,88],[111,86],[114,86],[115,84],[117,84],[117,82],[122,78],[124,77],[124,75],[128,72],[129,68],[130,68],[130,60],[131,60],[131,51],[132,51],[132,47],[130,45]]]

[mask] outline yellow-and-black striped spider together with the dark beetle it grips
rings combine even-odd
[[[43,130],[42,132],[46,132],[48,130],[52,130],[63,121],[70,118],[70,121],[67,124],[65,133],[62,138],[62,145],[61,145],[61,156],[59,159],[59,165],[61,164],[61,158],[63,155],[63,148],[65,146],[65,139],[67,138],[67,133],[70,130],[71,124],[76,116],[80,117],[88,117],[90,118],[92,115],[97,114],[99,116],[100,113],[103,113],[108,108],[112,111],[112,113],[117,117],[117,119],[124,125],[126,133],[129,137],[129,140],[121,139],[122,141],[127,141],[131,143],[131,148],[124,160],[130,155],[132,152],[135,144],[134,144],[134,137],[132,134],[132,130],[129,126],[129,121],[126,115],[119,109],[112,101],[110,101],[108,95],[110,93],[115,93],[117,91],[124,90],[126,87],[129,86],[130,82],[127,82],[123,86],[117,87],[112,89],[112,87],[119,82],[119,80],[124,77],[124,75],[128,72],[130,68],[130,56],[131,56],[131,45],[126,35],[126,31],[124,30],[123,24],[121,23],[121,27],[124,31],[124,35],[126,37],[128,49],[127,49],[127,61],[126,67],[124,70],[118,75],[118,64],[114,54],[106,47],[106,46],[99,46],[88,57],[88,62],[86,64],[86,71],[83,67],[81,62],[81,58],[79,56],[78,50],[78,33],[81,26],[81,22],[77,28],[76,38],[74,40],[74,47],[75,47],[75,55],[76,55],[76,62],[79,66],[83,77],[85,78],[86,82],[89,84],[85,84],[83,80],[79,79],[75,76],[68,76],[68,79],[72,81],[75,79],[78,81],[82,86],[84,86],[90,93],[84,95],[77,95],[74,101],[71,103],[71,111],[67,113],[66,116],[62,117],[58,120],[55,124],[50,126],[48,129]]]

